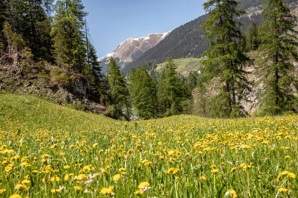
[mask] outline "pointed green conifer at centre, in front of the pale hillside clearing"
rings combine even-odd
[[[185,81],[179,79],[175,69],[171,56],[168,56],[157,93],[158,113],[161,117],[183,113],[185,107],[183,101],[191,98]]]

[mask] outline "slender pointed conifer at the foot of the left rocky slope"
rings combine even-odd
[[[112,108],[110,116],[115,119],[120,119],[124,116],[129,120],[131,104],[126,79],[120,72],[113,57],[110,58],[108,67],[107,79],[109,82],[109,95],[111,97],[108,105]],[[125,114],[123,113],[124,107],[126,108]]]

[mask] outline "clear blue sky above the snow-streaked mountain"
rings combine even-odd
[[[82,0],[98,57],[129,38],[164,33],[205,12],[206,0]]]

